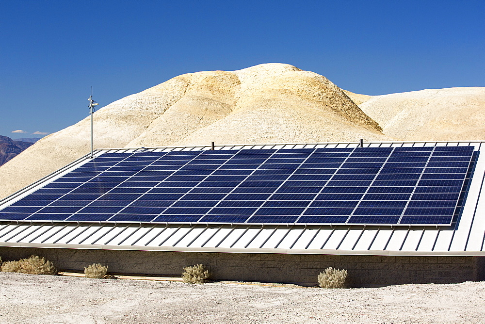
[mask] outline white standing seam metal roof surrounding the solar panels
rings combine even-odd
[[[485,142],[382,142],[364,147],[475,146]],[[358,143],[261,144],[215,149],[356,147]],[[211,146],[97,149],[95,155],[139,150],[208,150]],[[0,209],[46,182],[90,161],[89,154],[0,201]],[[485,156],[478,154],[466,199],[451,226],[291,226],[0,222],[0,246],[144,251],[246,252],[339,255],[485,256]]]

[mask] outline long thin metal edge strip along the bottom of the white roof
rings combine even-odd
[[[315,250],[315,249],[257,249],[257,248],[200,248],[171,246],[91,245],[91,244],[38,244],[0,243],[0,247],[34,247],[91,250],[133,250],[160,252],[204,253],[265,253],[265,254],[319,254],[401,257],[485,257],[485,251],[384,251],[384,250]]]

